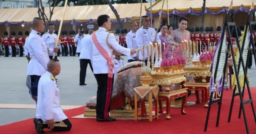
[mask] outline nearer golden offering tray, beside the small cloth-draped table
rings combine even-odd
[[[179,73],[171,73],[171,74],[151,74],[152,85],[163,85],[165,86],[166,92],[170,92],[171,84],[178,84],[180,82],[186,81],[184,77],[186,72],[182,71]]]

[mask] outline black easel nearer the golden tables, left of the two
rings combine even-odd
[[[227,22],[228,21],[228,17],[231,16],[231,22]],[[223,74],[226,74],[226,68],[227,68],[227,61],[228,61],[228,52],[226,50],[222,50],[222,45],[223,45],[223,40],[224,39],[224,35],[225,35],[225,30],[227,28],[228,30],[228,47],[230,47],[231,49],[231,54],[232,54],[232,57],[235,57],[235,54],[234,54],[234,50],[233,50],[233,46],[232,46],[232,42],[231,42],[231,33],[230,33],[230,30],[232,30],[232,28],[235,28],[235,31],[236,31],[236,38],[238,39],[238,35],[237,35],[237,29],[236,29],[236,25],[235,25],[235,22],[233,22],[234,20],[234,10],[233,9],[229,9],[227,15],[226,15],[226,18],[225,18],[225,24],[223,26],[223,32],[221,34],[221,40],[220,40],[220,50],[218,52],[218,58],[217,58],[217,65],[219,64],[219,60],[220,60],[220,54],[221,52],[225,52],[226,53],[226,58],[225,58],[225,65],[224,65],[224,68],[223,68]],[[246,37],[246,36],[244,36]],[[252,35],[251,35],[252,37]],[[225,44],[224,44],[225,45]],[[239,55],[240,55],[240,58],[239,58],[239,61],[242,61],[242,67],[243,67],[243,71],[244,71],[244,74],[247,74],[246,73],[246,69],[245,69],[245,66],[244,66],[244,61],[243,61],[243,58],[242,58],[242,52],[243,52],[243,49],[241,49],[240,45],[239,45],[239,42],[237,42],[237,47],[238,47],[238,51],[239,51]],[[242,44],[242,48],[244,48],[244,43]],[[254,47],[255,49],[255,47]],[[255,56],[254,56],[255,57]],[[241,65],[241,62],[239,62],[239,67]],[[250,89],[249,89],[249,85],[248,85],[248,81],[247,81],[247,77],[245,77],[245,81],[247,82],[247,88],[248,88],[248,92],[249,92],[249,95],[250,95],[250,99],[247,100],[247,101],[244,101],[243,102],[243,95],[242,95],[242,92],[241,92],[241,87],[240,87],[240,83],[239,83],[239,78],[238,78],[238,71],[237,71],[237,65],[234,64],[234,69],[235,69],[235,76],[236,76],[236,79],[237,79],[237,87],[238,87],[238,90],[239,90],[239,97],[240,97],[240,101],[241,101],[241,108],[243,110],[243,115],[244,115],[244,122],[245,122],[245,127],[246,127],[246,130],[247,130],[247,134],[249,134],[249,129],[248,129],[248,125],[247,125],[247,119],[246,119],[246,115],[245,115],[245,111],[244,111],[244,105],[247,104],[247,103],[251,103],[252,107],[253,107],[253,104],[252,104],[252,100],[251,100],[251,92],[250,92]],[[212,71],[212,68],[211,68],[211,71]],[[214,83],[216,83],[216,75],[217,75],[217,71],[218,71],[218,66],[216,66],[216,70],[215,70],[215,75],[214,75]],[[222,85],[224,85],[224,81],[225,81],[225,75],[223,75],[223,82],[222,82]],[[211,86],[211,85],[210,85]],[[224,86],[223,86],[224,87]],[[222,103],[222,96],[223,96],[223,89],[221,91],[221,96],[220,98],[218,99],[213,99],[213,92],[211,92],[211,95],[210,95],[210,101],[209,101],[209,107],[208,107],[208,111],[207,111],[207,116],[206,116],[206,123],[205,123],[205,127],[204,127],[204,132],[206,132],[207,130],[207,125],[208,125],[208,121],[209,121],[209,115],[210,115],[210,110],[211,110],[211,105],[213,103],[216,103],[218,102],[219,103],[219,106],[218,106],[218,115],[217,115],[217,121],[216,121],[216,127],[218,127],[218,124],[219,124],[219,119],[220,119],[220,109],[221,109],[221,103]],[[253,108],[253,111],[254,111],[254,108]],[[255,115],[255,114],[254,114]],[[255,116],[254,116],[255,117]]]

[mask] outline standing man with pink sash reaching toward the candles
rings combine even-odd
[[[109,117],[110,101],[114,82],[113,51],[125,55],[135,53],[135,49],[124,48],[115,40],[115,35],[109,31],[111,22],[108,15],[100,15],[97,19],[99,30],[92,33],[89,44],[90,59],[93,73],[97,80],[96,121],[116,121]]]

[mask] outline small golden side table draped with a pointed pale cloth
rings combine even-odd
[[[135,105],[135,121],[137,119],[149,119],[150,122],[152,122],[153,118],[158,119],[158,108],[155,108],[155,116],[152,116],[152,99],[154,98],[155,103],[157,104],[158,102],[158,91],[159,87],[157,86],[149,86],[149,87],[135,87],[134,89],[134,105]],[[152,96],[153,95],[153,96]],[[149,97],[149,116],[147,117],[147,114],[144,115],[145,113],[145,98]],[[138,104],[137,100],[141,101],[141,116],[138,116]]]

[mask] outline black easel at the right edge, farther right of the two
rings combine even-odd
[[[249,19],[253,18],[253,21],[249,21]],[[246,28],[245,28],[245,33],[244,33],[244,38],[243,38],[243,42],[242,42],[242,52],[244,51],[244,43],[245,43],[245,39],[247,38],[247,31],[248,31],[248,26],[250,28],[250,40],[249,40],[249,47],[252,45],[253,47],[253,52],[254,54],[256,53],[255,52],[255,46],[254,46],[254,38],[253,38],[253,28],[254,26],[256,25],[256,22],[255,21],[255,11],[254,9],[252,9],[250,12],[249,12],[249,15],[247,17],[247,23],[246,23]],[[250,48],[245,48],[245,49],[249,49],[251,51]],[[241,66],[241,59],[242,59],[242,56],[240,56],[241,58],[239,59],[239,64],[238,64],[238,72],[239,72],[239,69],[240,69],[240,66]],[[256,55],[254,55],[254,60],[256,61]],[[243,62],[243,61],[242,61]],[[238,88],[239,92],[238,93],[235,93],[236,91],[236,88],[237,86],[234,87],[233,89],[233,94],[232,94],[232,100],[231,100],[231,105],[230,105],[230,112],[229,112],[229,116],[228,116],[228,122],[230,122],[231,120],[231,114],[232,114],[232,108],[233,108],[233,104],[234,104],[234,99],[235,99],[235,96],[240,96],[240,108],[239,108],[239,115],[238,115],[238,118],[241,118],[241,112],[243,110],[243,113],[244,113],[244,105],[248,104],[248,103],[251,103],[251,108],[252,108],[252,111],[254,113],[254,120],[256,122],[256,115],[255,115],[255,110],[254,110],[254,105],[253,105],[253,102],[252,102],[252,98],[251,98],[251,91],[250,91],[250,87],[249,87],[249,83],[248,83],[248,80],[247,80],[247,71],[248,71],[248,65],[249,65],[249,52],[247,54],[247,61],[246,61],[246,66],[245,66],[245,69],[244,69],[244,86],[243,86],[243,89],[245,90],[245,84],[247,85],[247,90],[248,90],[248,94],[249,94],[249,100],[246,100],[246,101],[243,101],[243,98],[244,98],[244,91],[241,93],[241,90]],[[239,85],[238,85],[239,86]],[[241,97],[241,94],[242,94],[242,97]],[[248,125],[247,125],[247,119],[245,118],[245,113],[244,113],[244,122],[245,122],[245,127],[246,127],[246,130],[247,130],[247,134],[249,134],[249,129],[248,129]]]

